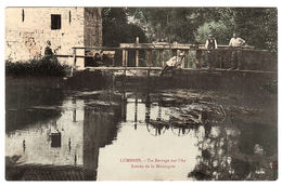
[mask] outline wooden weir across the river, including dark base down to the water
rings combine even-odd
[[[158,77],[159,70],[165,66],[165,62],[180,53],[184,53],[181,64],[174,70],[164,75],[174,77],[177,82],[197,83],[201,81],[210,81],[210,83],[234,83],[234,80],[249,81],[251,84],[261,82],[268,84],[277,81],[277,57],[267,50],[258,50],[254,46],[245,45],[241,48],[229,48],[228,45],[218,45],[214,50],[216,58],[214,68],[205,67],[206,53],[204,44],[189,43],[139,43],[137,38],[134,43],[120,43],[119,48],[106,46],[73,46],[72,55],[56,55],[57,57],[72,57],[70,77],[76,74],[102,72],[114,77],[126,77],[127,79],[149,78],[153,80],[162,79]],[[85,55],[76,55],[79,50],[85,51]],[[242,69],[229,70],[231,67],[232,51],[241,51],[240,58]],[[107,57],[105,64],[91,65],[97,53],[103,53]],[[77,58],[85,58],[85,68],[77,69]],[[90,64],[90,65],[89,65]],[[211,82],[214,81],[214,82]],[[206,82],[205,82],[206,83]]]

